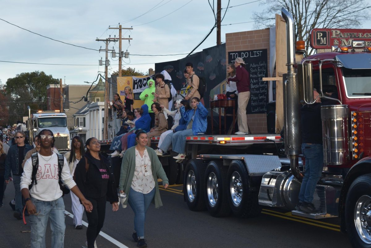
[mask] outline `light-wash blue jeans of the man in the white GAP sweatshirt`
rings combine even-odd
[[[63,198],[45,202],[32,199],[37,215],[30,215],[31,248],[45,248],[45,232],[50,219],[52,230],[52,248],[63,248],[65,239],[65,203]]]

